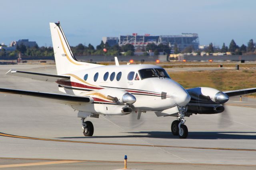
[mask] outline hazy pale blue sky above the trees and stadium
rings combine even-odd
[[[0,43],[29,39],[52,45],[49,22],[70,45],[98,45],[103,36],[198,33],[200,44],[256,42],[256,0],[4,0]]]

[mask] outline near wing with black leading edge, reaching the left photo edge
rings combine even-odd
[[[0,93],[24,95],[30,97],[38,97],[41,99],[47,99],[47,101],[54,103],[61,103],[67,105],[82,105],[92,103],[94,100],[92,97],[88,96],[74,96],[74,95],[64,95],[57,93],[41,93],[35,91],[22,91],[13,89],[0,89]]]

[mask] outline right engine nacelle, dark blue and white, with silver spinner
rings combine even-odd
[[[229,99],[228,95],[225,93],[210,87],[196,87],[188,89],[187,91],[193,102],[214,102],[223,104]]]

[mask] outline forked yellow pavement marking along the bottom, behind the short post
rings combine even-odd
[[[64,163],[76,163],[76,162],[105,162],[105,163],[124,163],[124,161],[115,161],[115,160],[70,160],[70,159],[43,159],[43,158],[5,158],[0,157],[0,159],[16,159],[16,160],[48,160],[52,162],[35,162],[35,163],[26,163],[26,164],[10,164],[10,165],[1,165],[0,168],[7,167],[19,167],[19,166],[37,166],[37,165],[49,165],[49,164],[64,164]],[[168,165],[199,165],[199,166],[256,166],[252,164],[200,164],[200,163],[178,163],[178,162],[138,162],[138,161],[129,161],[130,164],[168,164]]]

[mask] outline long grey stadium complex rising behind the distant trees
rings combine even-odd
[[[134,45],[135,48],[144,47],[149,43],[155,43],[156,45],[163,43],[172,47],[177,44],[180,51],[189,46],[192,46],[196,50],[199,48],[198,34],[192,33],[182,33],[182,35],[178,36],[150,36],[150,34],[140,36],[137,33],[133,33],[132,35],[119,36],[119,38],[103,37],[102,41],[104,43],[108,42],[108,44],[118,43],[120,46],[130,43]]]

